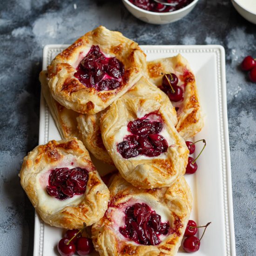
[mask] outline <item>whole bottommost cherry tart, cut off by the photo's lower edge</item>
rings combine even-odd
[[[169,188],[137,189],[115,176],[104,217],[92,226],[101,256],[174,256],[181,244],[192,205],[184,177]]]

